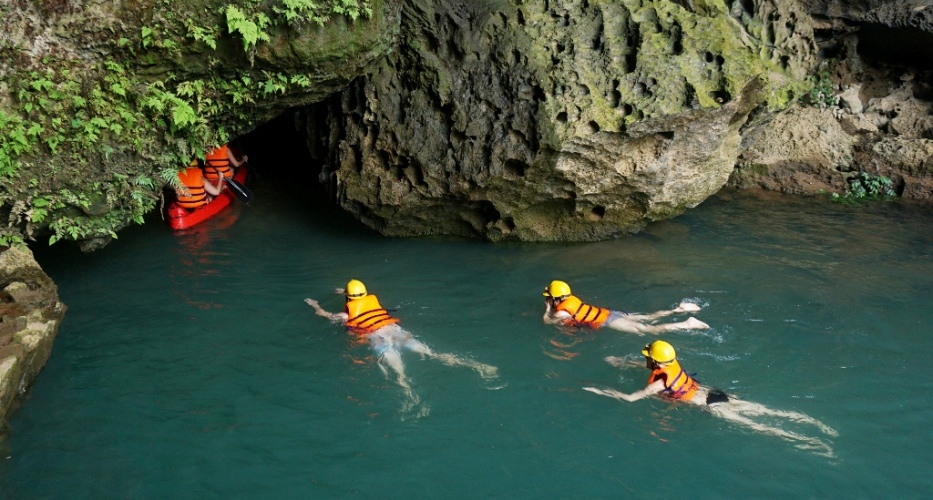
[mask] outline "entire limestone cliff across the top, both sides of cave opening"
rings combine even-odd
[[[931,11],[5,0],[0,244],[106,243],[191,157],[286,109],[333,200],[386,235],[596,240],[727,183],[841,191],[866,171],[929,198]]]

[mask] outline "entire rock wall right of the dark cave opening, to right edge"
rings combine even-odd
[[[615,237],[724,185],[930,199],[930,4],[409,0],[399,50],[313,113],[322,182],[383,234],[494,241]]]

